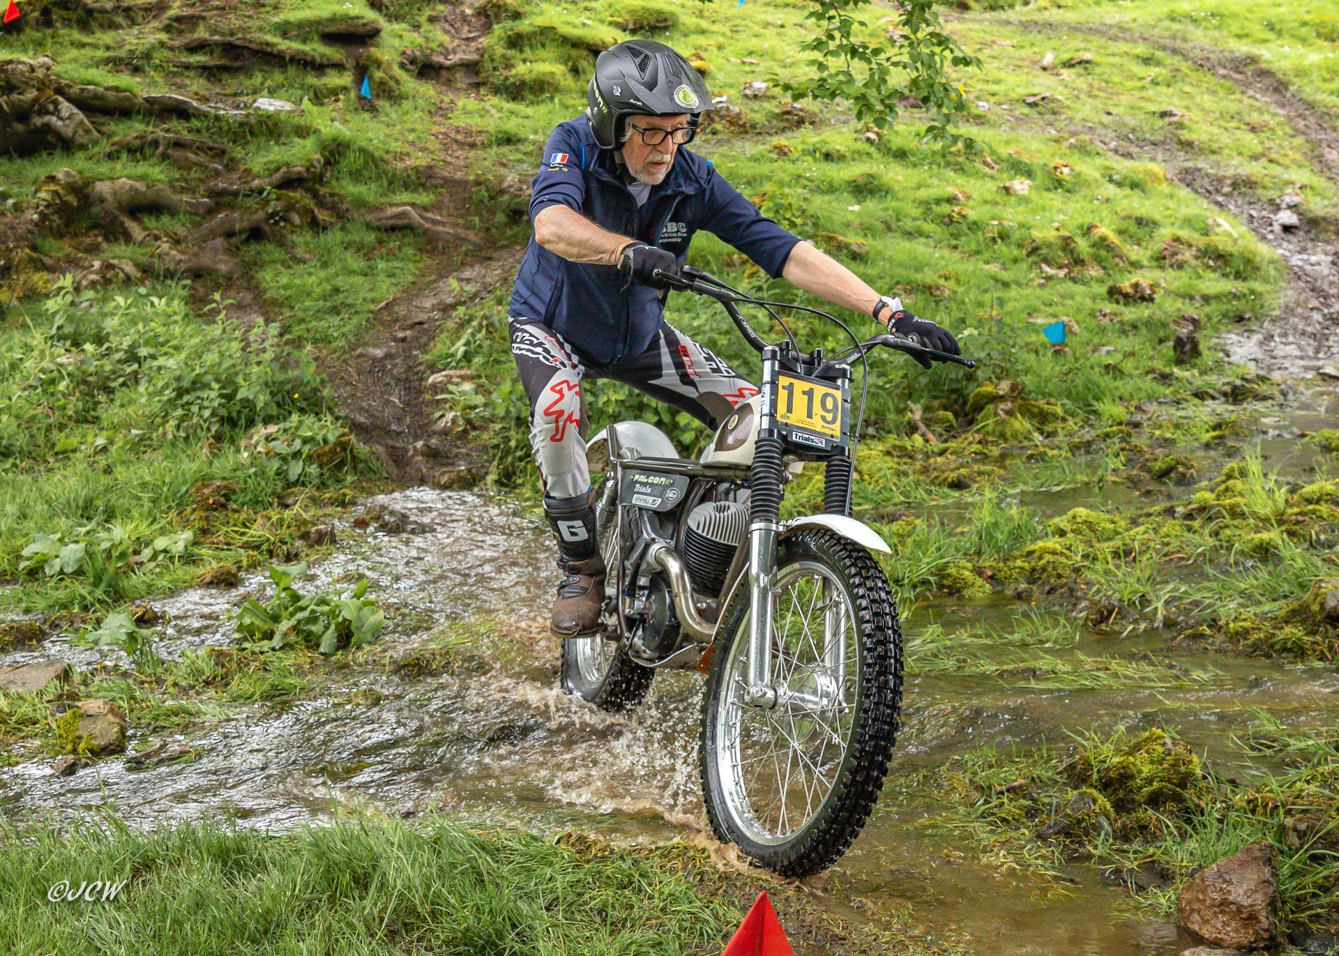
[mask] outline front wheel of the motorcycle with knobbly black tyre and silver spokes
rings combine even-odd
[[[773,601],[771,710],[744,703],[749,589],[716,631],[702,719],[711,829],[763,866],[832,866],[878,799],[897,736],[901,632],[888,578],[825,529],[787,538]]]

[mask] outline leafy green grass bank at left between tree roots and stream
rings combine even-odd
[[[179,288],[62,289],[0,340],[9,608],[108,611],[208,565],[254,562],[311,524],[315,499],[371,474],[309,362],[265,327],[193,313]],[[224,482],[226,502],[201,510],[204,482]],[[185,549],[143,553],[185,532]],[[82,548],[82,562],[27,566],[43,541]]]

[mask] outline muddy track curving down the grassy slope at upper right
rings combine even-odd
[[[1019,29],[1083,33],[1113,43],[1141,43],[1206,70],[1284,119],[1311,146],[1316,170],[1339,185],[1339,133],[1287,82],[1245,54],[1107,24],[1020,19],[996,23]],[[1169,143],[1119,139],[1101,130],[1085,133],[1117,155],[1160,162],[1178,185],[1239,217],[1287,264],[1289,283],[1277,313],[1221,337],[1224,355],[1231,362],[1276,378],[1310,378],[1339,363],[1339,222],[1302,218],[1299,228],[1284,230],[1275,224],[1280,212],[1277,205],[1243,191],[1197,157]]]

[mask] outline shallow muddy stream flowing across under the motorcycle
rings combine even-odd
[[[1275,465],[1287,463],[1292,447],[1280,445]],[[143,826],[232,813],[246,825],[287,827],[325,818],[340,801],[629,841],[702,834],[698,675],[659,675],[648,702],[625,716],[566,698],[556,690],[557,648],[542,625],[553,558],[537,521],[461,491],[410,489],[367,503],[399,509],[419,528],[358,530],[351,514],[337,525],[336,553],[300,586],[367,576],[391,615],[384,648],[407,653],[445,629],[477,632],[486,636],[470,649],[474,667],[411,678],[349,665],[287,710],[240,707],[181,735],[201,751],[193,763],[130,770],[112,758],[55,777],[47,761],[32,761],[0,770],[0,803],[17,815],[111,803]],[[167,617],[161,652],[228,643],[230,609],[266,588],[253,576],[233,590],[157,601]],[[916,771],[983,743],[1028,747],[1063,742],[1067,731],[1156,723],[1227,763],[1231,736],[1252,708],[1289,723],[1339,715],[1334,668],[1174,652],[1162,635],[1101,636],[1014,601],[921,605],[905,632],[904,732],[889,783],[864,835],[810,889],[846,919],[907,910],[935,939],[981,953],[1153,956],[1188,941],[1138,916],[1094,868],[1077,865],[1073,882],[1056,882],[983,861],[927,823],[943,807],[935,793],[908,783]],[[1024,636],[995,645],[992,632]],[[116,653],[54,639],[0,664],[64,656],[88,667]],[[992,671],[1019,661],[1032,667]],[[130,751],[142,746],[133,730]]]

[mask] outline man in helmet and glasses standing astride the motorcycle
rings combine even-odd
[[[663,317],[657,269],[683,264],[699,229],[773,278],[872,315],[931,348],[953,336],[880,296],[846,266],[766,218],[692,141],[711,94],[688,62],[653,40],[596,60],[586,111],[560,123],[533,181],[534,233],[510,304],[511,353],[530,403],[530,445],[564,578],[550,631],[600,629],[604,562],[596,545],[584,434],[585,378],[609,378],[688,412],[708,428],[758,388]]]

